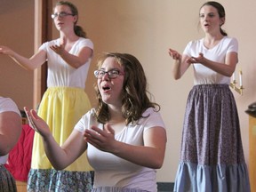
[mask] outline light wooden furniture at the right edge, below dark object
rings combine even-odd
[[[256,117],[249,116],[249,177],[251,191],[256,192]]]

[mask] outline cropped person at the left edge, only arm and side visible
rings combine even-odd
[[[15,102],[0,96],[0,191],[17,191],[16,182],[4,164],[20,138],[21,122],[20,110]]]

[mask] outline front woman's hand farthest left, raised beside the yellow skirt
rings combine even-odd
[[[24,110],[28,117],[29,125],[32,129],[34,129],[44,138],[47,138],[49,135],[52,135],[48,124],[46,124],[41,117],[37,116],[36,111],[34,109],[29,110],[27,107],[24,107]]]

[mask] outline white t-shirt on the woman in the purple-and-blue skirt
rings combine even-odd
[[[212,49],[207,49],[202,38],[189,42],[183,54],[189,57],[198,57],[199,52],[202,52],[204,58],[208,60],[225,63],[228,52],[238,52],[238,43],[236,38],[224,36],[219,44],[216,44]],[[223,76],[202,64],[193,64],[193,68],[194,84],[230,84],[230,77]]]

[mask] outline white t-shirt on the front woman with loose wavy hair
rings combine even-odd
[[[90,129],[92,125],[103,129],[103,124],[98,123],[93,115],[94,109],[91,109],[80,119],[75,129],[84,132],[85,129]],[[143,146],[144,132],[155,126],[165,129],[160,113],[154,111],[154,108],[148,108],[143,116],[148,117],[140,118],[137,124],[128,124],[122,132],[115,135],[115,139],[131,145]],[[91,144],[88,144],[87,156],[95,171],[94,188],[120,187],[157,191],[155,169],[132,164],[111,153],[100,151]]]

